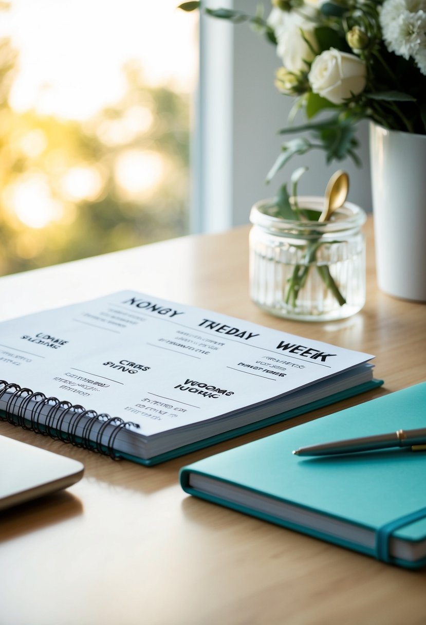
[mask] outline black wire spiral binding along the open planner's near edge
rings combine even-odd
[[[57,397],[47,397],[42,392],[33,392],[29,388],[22,388],[19,384],[9,384],[5,380],[0,380],[0,399],[5,396],[6,409],[0,410],[0,419],[61,442],[71,442],[72,445],[104,454],[114,460],[120,457],[114,449],[119,432],[123,428],[139,427],[137,423],[123,421],[106,413],[98,414],[94,410],[86,410],[79,404],[60,401]],[[41,423],[40,417],[44,406],[49,406],[49,411],[44,423]],[[69,418],[65,427],[67,417]],[[92,436],[92,430],[97,422],[101,422],[101,427],[96,436]],[[77,436],[79,424],[82,424],[82,432]],[[110,427],[111,432],[107,441],[104,441],[106,431]]]

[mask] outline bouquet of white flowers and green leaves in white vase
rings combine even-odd
[[[193,11],[202,2],[181,8]],[[426,0],[272,0],[266,19],[262,6],[255,16],[204,11],[249,22],[282,62],[275,85],[295,103],[279,132],[299,136],[282,144],[268,181],[294,154],[310,149],[323,149],[327,162],[350,156],[359,164],[355,125],[362,119],[426,134]],[[302,125],[294,124],[299,110],[307,119]]]

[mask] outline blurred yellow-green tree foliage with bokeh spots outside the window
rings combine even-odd
[[[89,121],[21,114],[16,61],[1,41],[0,274],[186,234],[187,96],[147,88],[129,63],[121,101]]]

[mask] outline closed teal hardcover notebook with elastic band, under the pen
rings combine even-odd
[[[184,491],[325,541],[426,565],[426,451],[298,457],[294,449],[426,425],[426,382],[181,469]]]

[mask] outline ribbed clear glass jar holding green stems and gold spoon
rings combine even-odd
[[[307,221],[275,217],[272,200],[250,212],[250,296],[262,309],[300,321],[332,321],[365,304],[365,212],[345,204],[317,219],[324,197],[298,197]],[[312,220],[312,221],[311,221]]]

